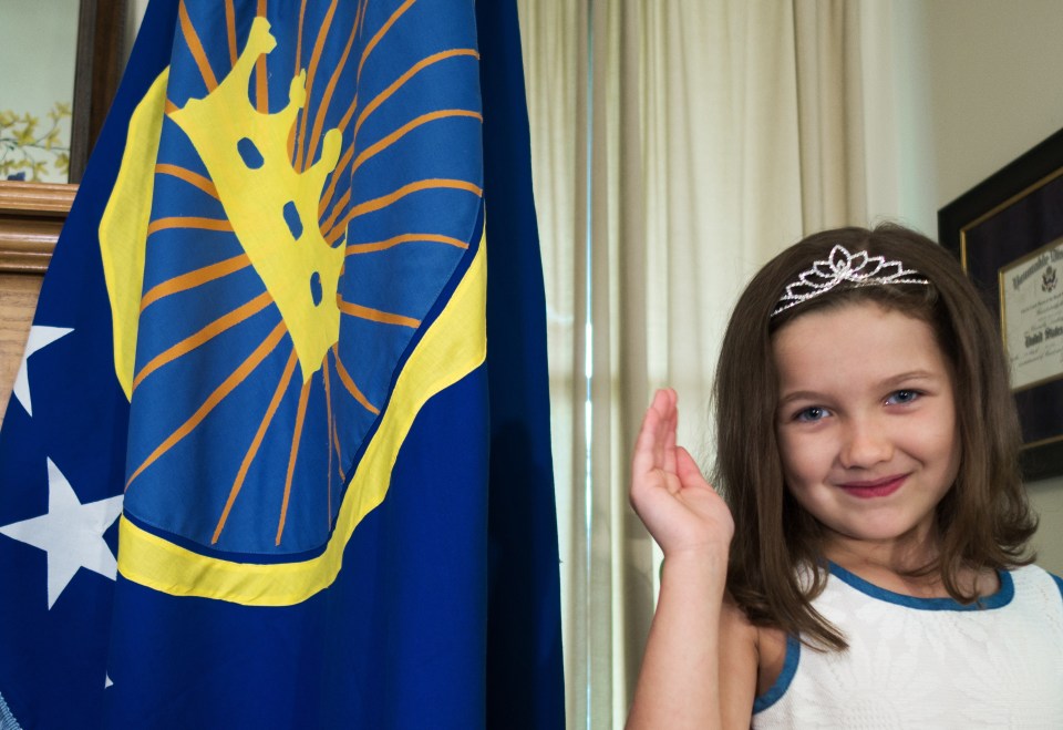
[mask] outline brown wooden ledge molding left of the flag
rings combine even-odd
[[[0,274],[43,275],[76,185],[0,182]]]

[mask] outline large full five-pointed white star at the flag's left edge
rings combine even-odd
[[[55,605],[78,568],[115,579],[118,565],[103,533],[122,514],[123,495],[82,504],[48,460],[48,513],[0,526],[0,534],[48,553],[48,607]]]

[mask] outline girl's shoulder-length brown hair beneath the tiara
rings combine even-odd
[[[839,285],[772,317],[786,286],[834,246],[901,261],[930,284]],[[727,587],[756,625],[801,635],[812,646],[840,649],[839,631],[811,605],[826,582],[819,523],[789,495],[775,438],[778,382],[772,336],[809,311],[875,301],[928,322],[951,368],[960,439],[953,489],[938,504],[939,570],[949,595],[977,598],[959,585],[964,567],[1025,565],[1036,528],[1022,485],[1021,444],[1000,333],[956,259],[930,239],[897,225],[815,234],[770,261],[745,288],[727,325],[713,393],[716,418],[714,483],[734,515]],[[812,572],[811,585],[798,569]]]

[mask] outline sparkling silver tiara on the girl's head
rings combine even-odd
[[[867,251],[850,254],[845,246],[835,246],[826,260],[813,261],[812,268],[802,271],[797,280],[786,287],[786,294],[780,297],[772,317],[826,294],[843,281],[858,287],[930,284],[919,271],[906,269],[900,261],[868,256]]]

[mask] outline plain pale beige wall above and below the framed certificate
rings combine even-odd
[[[938,208],[1063,127],[1063,3],[889,4],[901,142],[901,193],[892,203],[899,217],[932,235]],[[911,191],[918,199],[906,197]],[[1038,562],[1063,575],[1063,477],[1028,489],[1041,514]]]

